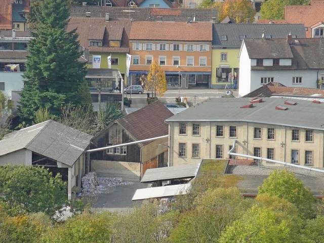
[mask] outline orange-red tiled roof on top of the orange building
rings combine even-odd
[[[212,41],[212,22],[133,21],[130,39]]]

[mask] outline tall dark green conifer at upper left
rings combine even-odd
[[[84,105],[86,68],[78,62],[75,30],[66,32],[69,11],[66,0],[39,1],[32,9],[33,39],[28,45],[24,88],[19,113],[26,123],[34,121],[35,112],[47,109],[59,116],[62,105]]]

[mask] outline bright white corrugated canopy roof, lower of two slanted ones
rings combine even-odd
[[[148,198],[170,197],[180,194],[187,194],[190,190],[191,184],[179,184],[171,186],[159,186],[137,189],[132,200],[143,200]]]

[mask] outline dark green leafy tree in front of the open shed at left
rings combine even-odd
[[[52,215],[66,202],[61,175],[33,166],[0,167],[0,200],[9,215],[44,212]]]

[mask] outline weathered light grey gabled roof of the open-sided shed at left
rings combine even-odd
[[[72,166],[89,146],[91,138],[89,134],[47,120],[6,135],[0,140],[0,156],[25,148]]]

